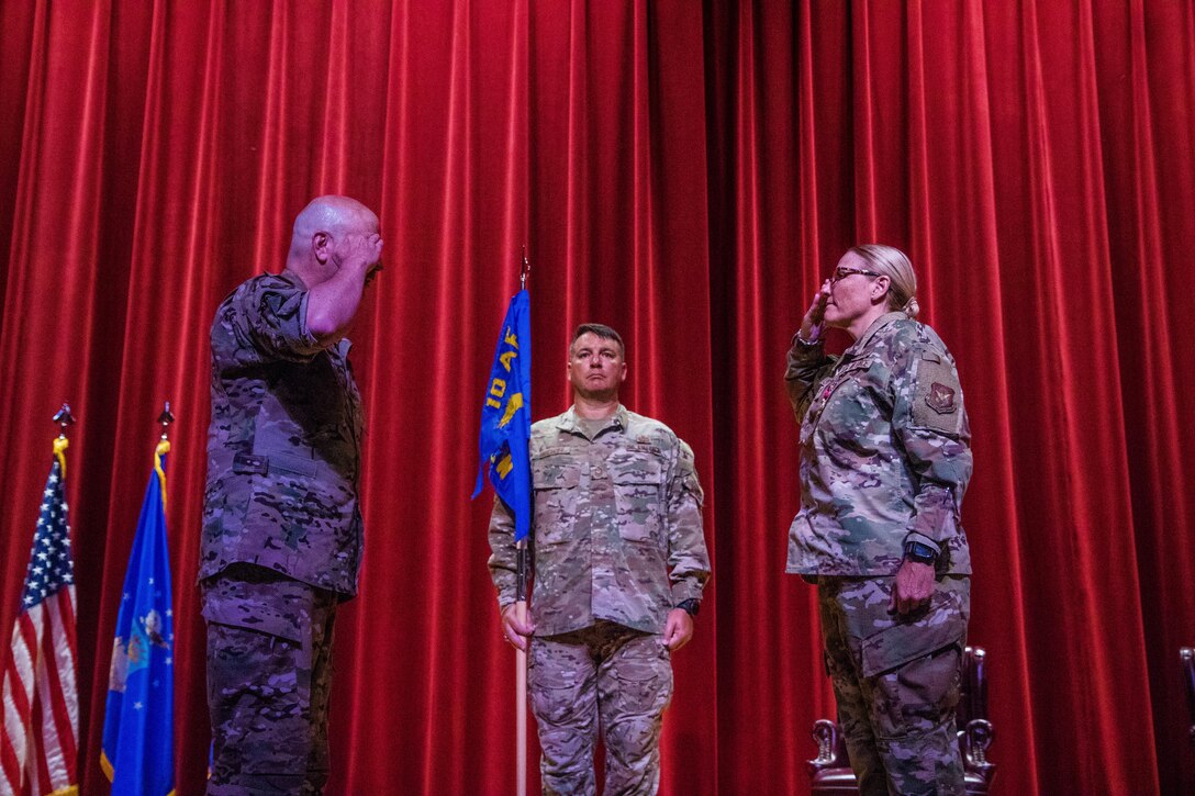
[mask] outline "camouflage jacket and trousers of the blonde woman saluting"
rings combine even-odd
[[[801,510],[786,571],[819,583],[826,666],[860,791],[962,791],[955,736],[969,616],[960,504],[970,429],[954,359],[893,312],[841,357],[793,338],[785,380],[801,422]],[[888,613],[903,545],[938,552],[927,608]]]

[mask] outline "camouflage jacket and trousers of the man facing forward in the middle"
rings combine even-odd
[[[672,696],[668,613],[710,576],[692,449],[619,406],[600,428],[574,409],[532,427],[535,636],[528,656],[545,794],[593,794],[599,727],[606,790],[654,794]],[[495,501],[490,571],[515,600],[514,518]]]

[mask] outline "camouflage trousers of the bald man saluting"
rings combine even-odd
[[[209,796],[320,794],[337,595],[249,565],[202,583]]]

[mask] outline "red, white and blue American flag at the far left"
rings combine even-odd
[[[65,448],[60,437],[5,662],[0,794],[74,792],[79,782],[74,562]]]

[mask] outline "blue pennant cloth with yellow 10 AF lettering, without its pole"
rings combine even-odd
[[[531,298],[519,290],[502,322],[494,351],[490,380],[482,404],[480,454],[477,489],[482,492],[486,469],[490,483],[515,515],[515,541],[531,533]]]

